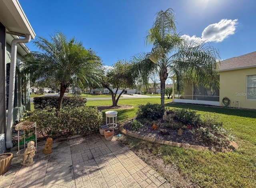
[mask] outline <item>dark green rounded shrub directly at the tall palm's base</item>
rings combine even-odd
[[[148,120],[157,120],[164,115],[164,106],[161,104],[138,105],[137,118],[147,118]]]

